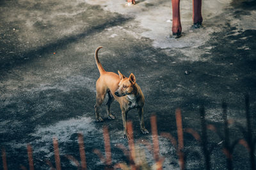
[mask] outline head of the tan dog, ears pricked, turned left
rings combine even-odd
[[[118,84],[118,89],[115,92],[117,97],[122,97],[127,94],[132,94],[134,85],[136,83],[136,78],[134,74],[130,74],[129,78],[125,77],[123,74],[120,73],[118,70],[120,82]]]

